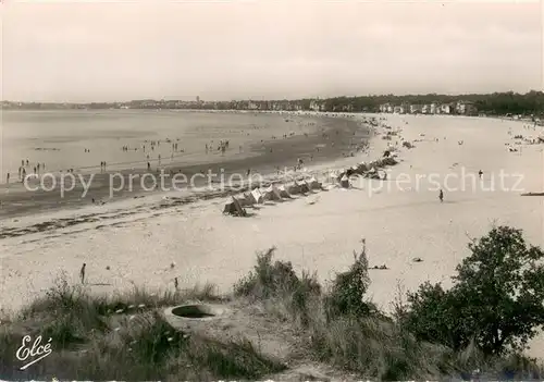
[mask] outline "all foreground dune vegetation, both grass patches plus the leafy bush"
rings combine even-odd
[[[234,286],[233,301],[264,308],[269,320],[300,333],[302,361],[380,380],[542,379],[544,369],[521,355],[544,324],[544,252],[522,233],[494,227],[469,244],[454,286],[425,283],[397,303],[392,316],[366,297],[370,279],[363,245],[350,268],[323,287],[257,256],[255,270]],[[210,285],[183,293],[91,296],[59,282],[0,328],[0,378],[210,380],[258,379],[286,366],[250,341],[220,342],[173,330],[158,308],[189,299],[218,301]],[[224,303],[224,301],[223,301]],[[232,303],[232,301],[231,301]],[[50,336],[55,352],[18,371],[14,354],[24,334]]]

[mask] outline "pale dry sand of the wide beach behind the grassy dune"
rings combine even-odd
[[[224,197],[176,205],[157,194],[84,207],[77,214],[94,219],[0,241],[2,308],[17,309],[44,293],[59,270],[76,282],[83,262],[87,287],[97,293],[134,284],[173,288],[174,278],[183,286],[211,282],[228,292],[251,269],[256,251],[275,246],[279,258],[327,280],[351,263],[354,249],[366,238],[370,266],[388,268],[370,271],[370,297],[387,310],[397,286],[413,291],[428,280],[448,285],[455,267],[469,254],[470,237],[484,235],[493,224],[522,229],[531,244],[544,245],[543,199],[520,196],[544,190],[543,146],[515,145],[512,138],[539,132],[528,132],[520,122],[492,119],[374,116],[384,120],[370,150],[308,170],[325,178],[330,170],[380,158],[391,143],[399,148],[401,161],[391,168],[387,181],[354,178],[349,189],[330,187],[267,202],[247,219],[223,215]],[[398,133],[392,140],[382,139],[388,131]],[[403,147],[400,136],[415,147]],[[521,150],[510,152],[506,144]],[[475,187],[470,177],[461,177],[479,170],[483,181]],[[510,175],[503,186],[500,173]],[[430,174],[436,174],[442,187],[445,175],[458,175],[445,189],[443,204]],[[400,177],[407,181],[399,185]],[[44,221],[67,221],[74,213],[59,210],[7,218],[3,223],[24,230]],[[413,262],[415,257],[422,261]],[[533,341],[530,355],[544,358],[542,336]]]

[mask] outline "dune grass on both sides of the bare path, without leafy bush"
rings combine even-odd
[[[290,262],[273,261],[274,248],[257,256],[255,270],[219,297],[213,285],[150,292],[135,287],[112,296],[87,293],[61,278],[0,325],[0,378],[9,380],[257,380],[283,371],[245,338],[225,342],[173,330],[162,307],[188,301],[249,301],[267,319],[300,334],[299,359],[321,362],[359,379],[543,379],[535,360],[509,353],[485,356],[474,344],[453,350],[418,340],[397,317],[366,298],[370,284],[366,248],[353,266],[323,287],[316,274],[298,275]],[[401,309],[400,309],[401,310]],[[15,358],[21,340],[52,338],[54,352],[27,370]]]

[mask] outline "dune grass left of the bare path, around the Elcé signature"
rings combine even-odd
[[[143,288],[95,296],[60,279],[44,297],[0,326],[0,378],[10,380],[210,380],[258,379],[284,366],[251,343],[173,330],[158,308],[221,300],[212,285],[182,292]],[[51,337],[54,352],[24,371],[15,358],[24,335]]]

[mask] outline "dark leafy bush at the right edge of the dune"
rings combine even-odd
[[[454,349],[470,343],[490,356],[523,349],[544,325],[544,252],[507,226],[469,248],[449,291],[425,283],[409,294],[403,324]]]

